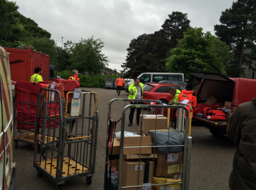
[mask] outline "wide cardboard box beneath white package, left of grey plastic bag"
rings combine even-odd
[[[124,137],[124,147],[151,146],[150,136]],[[120,154],[120,140],[114,138],[112,154]],[[151,147],[148,148],[124,148],[124,155],[130,154],[152,154]]]

